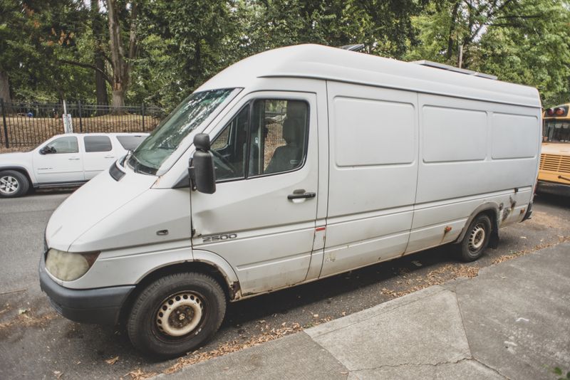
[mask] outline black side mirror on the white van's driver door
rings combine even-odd
[[[216,192],[216,172],[214,171],[214,155],[209,151],[209,136],[199,133],[194,137],[196,152],[190,161],[190,179],[192,187],[200,193]]]

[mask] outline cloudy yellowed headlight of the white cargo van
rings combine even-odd
[[[73,281],[86,274],[99,252],[73,253],[50,248],[46,255],[46,270],[62,281]]]

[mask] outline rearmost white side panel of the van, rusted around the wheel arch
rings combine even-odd
[[[521,221],[536,180],[540,110],[425,94],[418,100],[418,194],[406,253],[455,241],[482,204],[496,205],[499,226]]]

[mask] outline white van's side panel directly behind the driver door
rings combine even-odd
[[[417,95],[328,82],[329,186],[321,277],[401,255],[418,170]]]

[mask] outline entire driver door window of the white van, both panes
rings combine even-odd
[[[263,99],[244,107],[212,142],[216,179],[299,169],[306,157],[308,113],[301,100]]]

